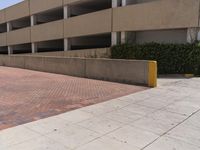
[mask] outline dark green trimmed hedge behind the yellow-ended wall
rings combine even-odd
[[[111,48],[111,57],[156,60],[159,74],[200,75],[199,44],[123,44]]]

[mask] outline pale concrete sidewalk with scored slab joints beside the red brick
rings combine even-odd
[[[199,150],[200,79],[0,131],[1,150]]]

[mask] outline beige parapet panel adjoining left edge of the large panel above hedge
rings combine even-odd
[[[110,33],[112,30],[111,22],[112,9],[68,18],[64,21],[64,37]]]

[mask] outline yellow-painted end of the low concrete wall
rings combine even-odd
[[[149,87],[157,87],[157,62],[149,61],[149,75],[148,75],[148,85]]]

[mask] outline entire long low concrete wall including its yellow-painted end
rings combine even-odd
[[[157,64],[153,61],[0,55],[0,66],[150,87],[157,85]]]

